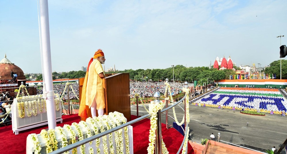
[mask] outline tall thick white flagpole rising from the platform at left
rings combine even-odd
[[[56,112],[54,103],[54,90],[52,78],[52,64],[51,64],[51,46],[50,46],[50,30],[49,30],[49,11],[48,0],[40,0],[40,21],[41,21],[41,36],[42,36],[42,50],[43,50],[43,77],[46,87],[46,106],[49,129],[56,127]]]

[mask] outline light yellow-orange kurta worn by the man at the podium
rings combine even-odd
[[[102,64],[95,59],[89,68],[86,87],[86,105],[90,108],[92,103],[97,103],[97,110],[105,108],[103,79],[98,75],[100,73],[104,73]]]

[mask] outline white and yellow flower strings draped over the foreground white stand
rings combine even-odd
[[[116,111],[110,112],[109,115],[103,115],[103,116],[94,117],[94,118],[87,118],[86,122],[80,121],[79,124],[77,123],[72,123],[72,125],[66,124],[63,126],[63,128],[56,127],[55,130],[50,129],[48,131],[43,129],[39,135],[30,134],[29,135],[30,138],[27,138],[27,143],[30,142],[30,140],[33,141],[32,151],[34,150],[35,154],[40,153],[41,145],[43,147],[46,147],[46,151],[45,151],[46,153],[50,153],[61,147],[65,147],[69,144],[73,144],[73,143],[76,143],[77,141],[81,141],[84,139],[84,136],[86,136],[87,138],[92,137],[92,135],[97,135],[101,132],[115,128],[124,123],[126,123],[126,118],[123,116],[122,113],[119,113]],[[124,132],[124,135],[123,135],[123,132]],[[57,140],[60,142],[59,147],[58,147]],[[118,131],[115,131],[114,133],[104,135],[101,138],[95,139],[95,141],[96,141],[96,146],[93,145],[93,143],[95,143],[94,141],[91,141],[84,145],[80,145],[78,152],[82,154],[86,152],[89,152],[89,154],[92,154],[92,153],[104,153],[104,154],[130,153],[129,131],[127,127],[123,129],[119,129]],[[100,147],[100,143],[102,143],[102,148]],[[77,152],[77,148],[72,149],[72,154],[76,154],[78,152]],[[69,151],[66,151],[65,153],[69,153]]]

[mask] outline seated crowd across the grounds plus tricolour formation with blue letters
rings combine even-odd
[[[181,89],[174,88],[184,86],[183,83],[169,83],[171,85],[172,95],[181,93]],[[70,87],[72,86],[72,88]],[[191,85],[189,85],[191,86]],[[66,87],[66,89],[65,89]],[[60,94],[62,100],[68,100],[68,90],[70,100],[79,98],[79,85],[78,84],[55,84],[53,86],[54,92]],[[155,92],[159,92],[161,95],[165,93],[166,85],[164,82],[130,82],[131,98],[133,94],[153,96]],[[191,94],[190,104],[199,106],[210,106],[218,108],[238,109],[238,110],[253,110],[257,112],[268,112],[274,114],[282,114],[282,111],[286,112],[287,100],[284,95],[287,95],[285,90],[275,88],[232,88],[232,87],[220,87],[216,90],[204,90],[196,91]],[[205,93],[203,93],[205,92]],[[37,87],[37,94],[42,94],[42,86]],[[196,98],[196,99],[194,99]],[[13,97],[9,95],[9,92],[0,93],[1,104],[7,102],[12,104]],[[2,105],[4,108],[4,106]],[[3,109],[0,112],[3,113]]]

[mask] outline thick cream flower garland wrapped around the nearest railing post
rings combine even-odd
[[[154,101],[150,102],[149,109],[150,109],[150,134],[148,139],[150,143],[148,144],[148,154],[154,153],[154,144],[156,139],[156,128],[157,128],[157,112],[164,107],[164,103],[160,101],[160,103],[154,103]],[[160,137],[162,140],[162,136]],[[162,140],[162,153],[167,154],[167,148]]]

